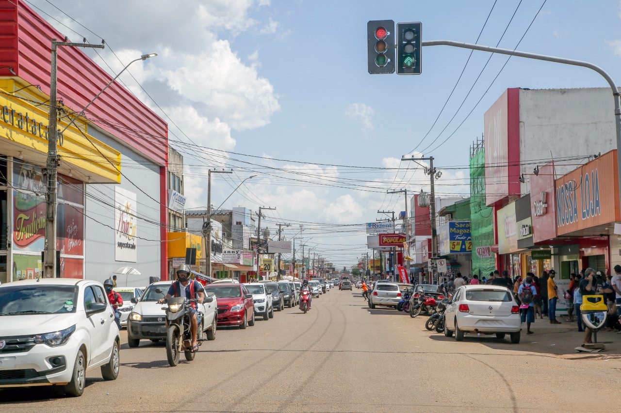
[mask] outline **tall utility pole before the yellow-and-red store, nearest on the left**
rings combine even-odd
[[[56,215],[58,202],[58,167],[60,166],[60,156],[58,156],[58,136],[61,135],[58,130],[57,113],[58,46],[89,47],[97,49],[104,48],[103,43],[101,45],[89,45],[86,43],[86,39],[84,39],[84,43],[71,43],[66,40],[68,40],[66,37],[64,42],[58,42],[55,38],[52,39],[52,63],[50,66],[50,117],[48,118],[47,162],[45,167],[45,174],[47,175],[47,193],[45,199],[45,253],[43,254],[43,275],[47,278],[54,278],[57,276]]]

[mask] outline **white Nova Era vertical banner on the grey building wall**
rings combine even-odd
[[[117,261],[136,262],[137,251],[137,211],[136,194],[115,187],[114,193],[114,259]]]

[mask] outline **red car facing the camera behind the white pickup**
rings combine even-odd
[[[255,301],[243,284],[214,284],[205,287],[218,301],[218,326],[255,325]]]

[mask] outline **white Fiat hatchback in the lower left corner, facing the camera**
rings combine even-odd
[[[0,388],[63,386],[81,396],[86,372],[119,375],[119,329],[101,283],[39,278],[0,285]]]

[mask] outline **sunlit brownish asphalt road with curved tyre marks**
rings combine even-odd
[[[619,411],[621,359],[566,360],[536,344],[455,342],[360,290],[222,328],[193,362],[168,366],[162,344],[123,340],[116,381],[99,369],[82,397],[47,387],[0,390],[0,411],[397,412]],[[122,331],[125,337],[125,331]],[[533,337],[533,336],[530,336]],[[181,357],[183,360],[183,356]]]

